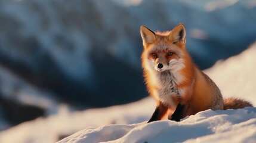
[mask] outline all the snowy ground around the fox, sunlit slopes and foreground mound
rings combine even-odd
[[[256,105],[255,54],[256,43],[205,72],[220,86],[224,97],[245,98]],[[165,120],[146,124],[155,105],[152,98],[144,98],[131,104],[75,113],[61,105],[56,115],[0,132],[0,142],[57,142],[79,130],[60,142],[252,142],[256,139],[256,108],[207,110],[179,123]]]

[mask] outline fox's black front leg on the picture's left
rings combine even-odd
[[[159,104],[156,106],[156,109],[154,111],[154,113],[152,114],[151,118],[149,119],[149,122],[153,122],[156,120],[161,120],[162,117],[164,117],[164,115],[166,114],[166,111],[168,110],[168,107],[165,107],[163,104]]]

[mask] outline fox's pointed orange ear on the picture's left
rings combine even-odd
[[[140,34],[143,40],[143,46],[153,43],[156,41],[156,34],[152,30],[148,29],[146,26],[140,27]]]

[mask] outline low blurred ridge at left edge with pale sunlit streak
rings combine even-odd
[[[0,66],[0,130],[54,114],[60,100]]]

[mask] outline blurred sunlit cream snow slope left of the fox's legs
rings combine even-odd
[[[131,107],[137,108],[136,111]],[[114,123],[144,122],[149,119],[154,108],[155,102],[151,98],[145,98],[127,105],[80,112],[72,112],[67,105],[61,105],[58,114],[45,119],[38,118],[32,122],[21,123],[0,132],[0,142],[56,142],[59,136],[70,135],[78,130],[88,128],[88,126],[98,127]],[[34,130],[39,130],[39,132],[34,132]],[[12,135],[17,136],[16,138],[10,138]]]

